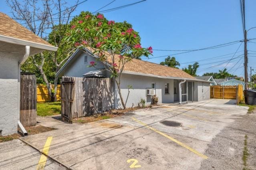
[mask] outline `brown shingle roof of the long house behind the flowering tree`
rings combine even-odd
[[[88,49],[88,48],[84,48],[84,50],[86,50],[87,53],[91,54],[92,56],[95,56],[93,54],[93,49]],[[76,50],[71,57],[69,58],[69,60],[62,66],[62,68],[56,73],[56,76],[58,76],[63,70],[64,68],[67,66],[67,64],[73,59],[75,58],[76,54],[78,53],[79,49]],[[112,63],[111,57],[109,56],[109,54],[106,54],[108,58],[108,62],[109,64]],[[108,57],[109,56],[109,57]],[[116,61],[118,61],[118,56],[116,55]],[[123,73],[126,74],[138,74],[138,75],[145,75],[145,76],[159,76],[159,78],[165,78],[165,77],[170,77],[170,78],[181,78],[181,79],[187,79],[187,80],[197,80],[196,78],[194,78],[193,76],[187,74],[186,72],[184,72],[183,70],[179,70],[177,68],[171,68],[168,66],[163,66],[160,64],[155,64],[152,62],[146,62],[143,60],[137,60],[137,59],[132,59],[130,62],[127,62],[125,64]],[[200,81],[204,81],[204,80],[200,80]],[[207,81],[204,81],[207,82]]]

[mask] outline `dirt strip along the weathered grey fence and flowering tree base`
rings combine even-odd
[[[146,108],[146,107],[145,107]],[[88,122],[95,122],[98,120],[103,120],[103,119],[109,119],[109,118],[115,118],[118,116],[123,116],[125,115],[126,112],[131,112],[133,110],[138,110],[141,109],[139,107],[135,108],[127,108],[127,109],[120,109],[120,110],[109,110],[108,112],[103,112],[91,116],[85,116],[85,117],[80,117],[80,118],[73,118],[73,123],[88,123]]]

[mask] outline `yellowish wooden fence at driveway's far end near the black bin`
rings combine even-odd
[[[243,86],[211,86],[211,98],[236,99],[237,104],[243,99]]]

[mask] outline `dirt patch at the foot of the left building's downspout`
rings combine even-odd
[[[28,132],[28,135],[39,134],[42,132],[48,132],[50,130],[55,130],[54,128],[48,128],[48,127],[44,127],[44,126],[40,126],[40,125],[26,127],[25,129]],[[22,133],[20,132],[20,129],[18,128],[18,133],[16,133],[16,134],[11,134],[8,136],[0,136],[0,143],[18,139],[20,137],[22,137]]]

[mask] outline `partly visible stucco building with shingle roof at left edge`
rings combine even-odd
[[[0,12],[0,136],[17,133],[20,65],[44,50],[57,48]]]

